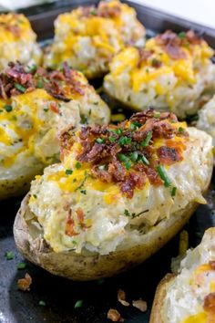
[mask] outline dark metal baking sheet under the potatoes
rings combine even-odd
[[[53,19],[59,12],[67,11],[82,4],[97,1],[59,1],[55,5],[37,6],[26,12],[33,23],[40,39],[53,35]],[[165,29],[174,31],[192,27],[215,47],[215,31],[210,28],[191,24],[183,19],[159,13],[142,5],[136,7],[138,18],[148,28],[148,36]],[[33,10],[33,11],[32,11]],[[47,10],[47,11],[46,11]],[[200,237],[210,226],[215,226],[215,178],[207,195],[208,204],[200,205],[185,229],[189,232],[189,246],[200,243]],[[179,234],[157,255],[152,256],[141,266],[105,280],[79,283],[52,276],[46,271],[26,262],[26,269],[18,270],[17,265],[23,261],[15,251],[13,239],[13,222],[20,199],[0,203],[0,323],[105,323],[110,307],[117,308],[128,323],[147,323],[155,289],[159,280],[170,270],[171,257],[178,255]],[[5,259],[5,252],[13,251],[15,258]],[[17,290],[17,279],[29,273],[33,278],[30,292]],[[140,312],[134,307],[123,307],[118,303],[118,288],[125,290],[128,301],[142,298],[148,302],[148,311]],[[77,300],[82,300],[80,308],[74,308]],[[40,306],[39,301],[46,306]]]

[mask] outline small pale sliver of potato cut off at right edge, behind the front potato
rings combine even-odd
[[[215,96],[200,109],[196,127],[209,133],[215,146]]]

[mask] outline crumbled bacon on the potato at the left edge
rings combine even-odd
[[[71,94],[84,95],[85,86],[77,78],[77,71],[68,68],[67,63],[64,63],[62,71],[40,67],[27,71],[19,62],[9,63],[8,68],[0,74],[0,98],[8,99],[43,88],[52,97],[67,102]]]

